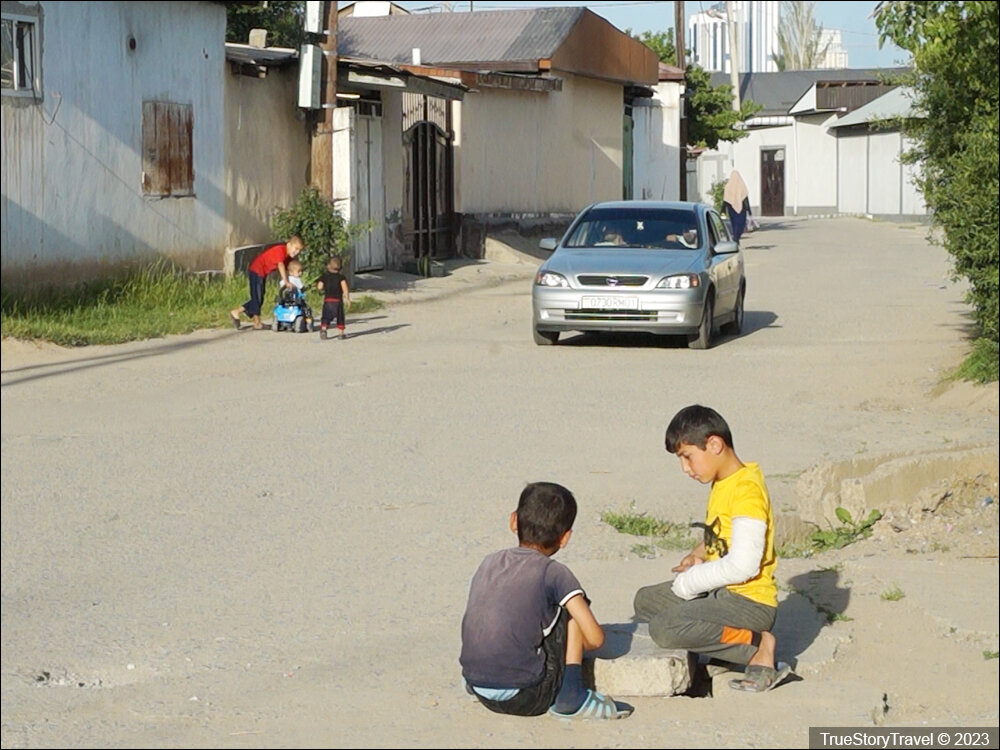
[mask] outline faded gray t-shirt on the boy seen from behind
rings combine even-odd
[[[562,563],[529,547],[489,555],[469,587],[462,618],[462,675],[470,685],[522,688],[545,669],[542,640],[580,582]]]

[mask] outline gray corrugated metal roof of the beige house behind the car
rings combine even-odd
[[[423,65],[474,69],[477,63],[500,63],[490,67],[503,69],[508,63],[523,70],[527,63],[537,68],[585,12],[576,7],[341,18],[337,54],[406,64],[416,47]]]

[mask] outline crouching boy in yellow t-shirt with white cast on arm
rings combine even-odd
[[[774,582],[774,517],[764,476],[733,450],[729,425],[714,409],[681,409],[667,427],[666,447],[692,479],[712,485],[704,541],[674,567],[673,581],[645,586],[635,614],[663,648],[746,664],[737,690],[762,692],[791,669],[774,661],[771,630],[778,611]]]

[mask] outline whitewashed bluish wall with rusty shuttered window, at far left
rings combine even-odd
[[[215,266],[226,238],[222,4],[4,0],[2,13],[5,283],[153,257]]]

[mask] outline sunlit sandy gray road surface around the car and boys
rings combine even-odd
[[[393,303],[343,342],[4,340],[3,747],[806,747],[810,726],[995,727],[989,461],[901,484],[866,541],[779,563],[798,679],[777,690],[721,675],[606,724],[462,692],[468,582],[513,542],[525,482],[580,501],[560,559],[602,621],[670,576],[673,553],[637,554],[600,514],[703,512],[662,447],[684,405],[727,417],[784,514],[813,513],[799,480],[820,465],[996,454],[996,385],[942,384],[968,321],[922,229],[786,220],[744,246],[746,331],[704,352],[536,347],[533,266],[496,262],[384,283]]]

